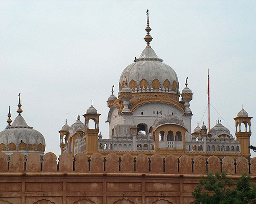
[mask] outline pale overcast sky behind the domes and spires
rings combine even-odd
[[[46,152],[60,154],[58,131],[66,118],[84,121],[91,100],[109,138],[106,100],[146,45],[146,9],[151,46],[176,71],[180,91],[188,77],[192,130],[207,122],[208,68],[211,104],[221,115],[211,108],[211,127],[223,118],[234,136],[242,105],[256,117],[255,1],[0,1],[0,131],[9,105],[17,116],[21,92],[22,115],[45,136]]]

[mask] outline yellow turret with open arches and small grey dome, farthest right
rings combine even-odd
[[[242,156],[250,157],[250,136],[251,136],[251,118],[248,113],[242,108],[234,120],[236,121],[236,137],[240,142],[240,151]],[[241,129],[244,126],[244,130]]]

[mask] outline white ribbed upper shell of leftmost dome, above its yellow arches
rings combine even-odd
[[[10,143],[19,145],[22,142],[27,146],[30,144],[45,146],[46,144],[44,136],[34,130],[33,127],[28,126],[25,119],[18,115],[11,126],[7,126],[4,131],[0,132],[0,144],[3,143],[8,148]],[[41,151],[44,152],[44,150]]]

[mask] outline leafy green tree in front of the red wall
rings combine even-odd
[[[243,174],[234,187],[234,181],[227,174],[211,172],[200,179],[193,192],[195,204],[249,204],[256,203],[256,187],[250,184],[250,176]]]

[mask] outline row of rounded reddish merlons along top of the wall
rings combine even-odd
[[[142,174],[205,174],[207,171],[227,171],[229,175],[241,175],[245,172],[256,176],[256,158],[247,160],[245,157],[233,159],[229,156],[222,160],[216,156],[191,158],[183,155],[179,158],[168,155],[148,157],[139,154],[134,158],[124,154],[120,158],[115,153],[104,157],[100,153],[88,158],[85,154],[77,154],[73,158],[67,152],[57,157],[48,152],[43,158],[36,152],[24,157],[20,152],[8,156],[0,152],[0,172],[18,173],[142,173]]]

